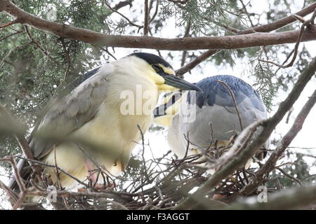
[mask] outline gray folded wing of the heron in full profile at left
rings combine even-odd
[[[96,115],[100,104],[105,100],[106,76],[112,71],[110,66],[110,71],[104,73],[105,70],[105,67],[93,69],[83,77],[74,80],[48,106],[30,141],[35,158],[43,158],[55,144],[52,140],[45,138],[46,135],[67,137]],[[67,92],[70,93],[67,94]]]

